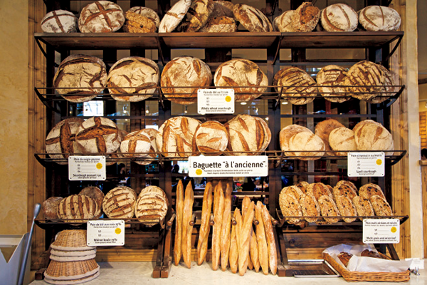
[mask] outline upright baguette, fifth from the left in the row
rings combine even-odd
[[[228,254],[230,252],[231,229],[231,186],[227,183],[224,198],[223,220],[221,225],[221,269],[226,271],[228,266]]]

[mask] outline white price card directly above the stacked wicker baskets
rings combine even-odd
[[[88,221],[88,247],[120,246],[125,244],[125,221]]]

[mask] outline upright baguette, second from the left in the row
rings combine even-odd
[[[190,225],[193,216],[194,192],[191,183],[185,188],[184,211],[182,214],[182,257],[188,268],[191,268],[191,233],[193,226]]]

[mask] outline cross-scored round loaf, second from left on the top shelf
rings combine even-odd
[[[78,28],[82,33],[108,33],[118,31],[125,24],[125,13],[110,1],[95,1],[80,12]]]

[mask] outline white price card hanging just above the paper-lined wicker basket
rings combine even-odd
[[[399,244],[399,219],[364,219],[364,244]]]

